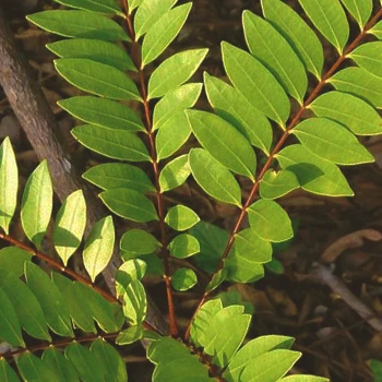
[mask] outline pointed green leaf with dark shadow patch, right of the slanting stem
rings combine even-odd
[[[354,192],[339,168],[300,144],[282,150],[276,158],[283,169],[297,176],[306,191],[326,196],[353,196]]]

